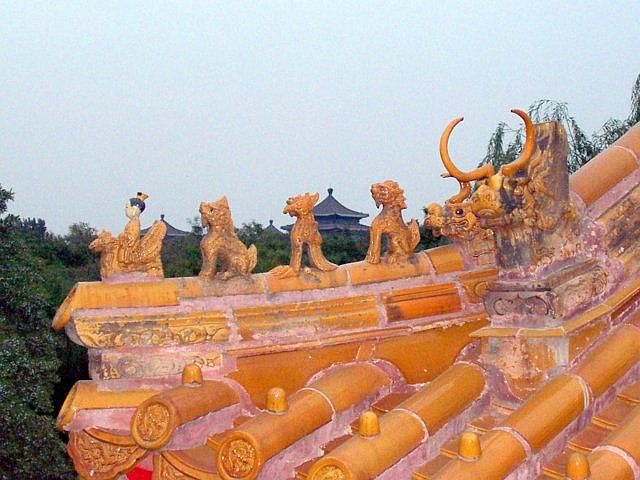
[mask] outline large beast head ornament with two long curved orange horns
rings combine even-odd
[[[569,196],[564,129],[557,122],[534,126],[522,110],[512,112],[524,121],[525,144],[520,157],[497,173],[492,165],[463,172],[453,164],[446,146],[462,118],[449,123],[440,142],[448,172],[444,176],[458,180],[461,194],[453,197],[456,201],[449,199],[443,209],[444,219],[437,215],[434,220],[427,218],[444,235],[466,241],[472,250],[479,235],[490,229],[504,272],[543,267],[554,260],[571,258],[582,248],[578,215]],[[472,181],[476,181],[473,193],[469,188]],[[437,209],[431,210],[437,213]]]

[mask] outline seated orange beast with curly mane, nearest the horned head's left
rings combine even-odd
[[[386,180],[371,186],[371,196],[376,207],[382,211],[374,218],[369,229],[369,250],[365,260],[369,263],[402,263],[413,256],[413,250],[420,242],[418,221],[411,219],[405,224],[402,210],[407,208],[404,190],[397,182]],[[387,251],[382,255],[382,236],[387,237]]]

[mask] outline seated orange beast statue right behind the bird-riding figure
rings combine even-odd
[[[214,278],[218,262],[222,266],[221,273],[225,279],[236,275],[249,275],[258,263],[258,251],[255,245],[247,248],[236,235],[227,197],[215,202],[202,202],[199,211],[202,226],[208,228],[207,234],[200,242],[200,277]]]

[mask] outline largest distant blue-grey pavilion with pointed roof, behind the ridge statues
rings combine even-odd
[[[360,220],[368,217],[369,214],[357,212],[342,205],[333,196],[333,188],[328,188],[327,192],[327,198],[313,208],[320,234],[325,236],[351,232],[357,235],[368,235],[369,227],[360,224]],[[282,226],[282,229],[287,232],[291,232],[291,228],[293,225]]]

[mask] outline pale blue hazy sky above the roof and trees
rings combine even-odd
[[[0,184],[56,233],[121,231],[138,190],[144,225],[188,229],[222,195],[236,225],[283,225],[288,196],[329,186],[374,215],[388,178],[422,220],[456,190],[437,150],[451,118],[462,168],[538,99],[588,133],[626,118],[639,19],[638,0],[4,1]]]

